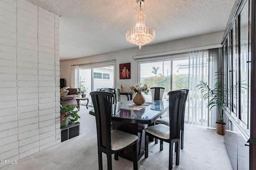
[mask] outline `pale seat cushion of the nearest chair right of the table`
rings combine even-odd
[[[170,138],[170,127],[163,125],[163,124],[150,126],[148,128],[145,128],[144,130],[150,134],[153,134],[154,136],[159,137],[159,138],[163,138],[163,139]]]

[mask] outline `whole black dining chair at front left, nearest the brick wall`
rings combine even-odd
[[[112,157],[118,160],[118,152],[124,148],[132,147],[133,168],[138,169],[137,140],[138,136],[111,130],[112,103],[114,95],[110,92],[92,91],[90,93],[96,117],[97,140],[98,140],[98,163],[102,170],[102,152],[107,156],[108,170],[112,170]]]

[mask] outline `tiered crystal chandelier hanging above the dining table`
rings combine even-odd
[[[140,7],[135,8],[136,26],[126,30],[126,40],[129,43],[139,45],[139,48],[141,48],[142,45],[150,43],[154,40],[156,31],[153,27],[145,25],[146,8],[141,8],[141,6],[144,4],[144,0],[137,0],[137,3]]]

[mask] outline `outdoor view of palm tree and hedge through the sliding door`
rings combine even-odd
[[[188,59],[141,63],[140,83],[147,83],[149,87],[164,87],[163,100],[167,100],[169,91],[188,88]],[[151,92],[144,94],[144,97],[152,99]]]

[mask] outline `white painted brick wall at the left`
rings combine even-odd
[[[59,17],[0,0],[0,160],[60,143],[59,79]]]

